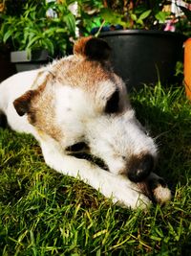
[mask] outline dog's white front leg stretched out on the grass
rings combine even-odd
[[[113,175],[85,159],[66,155],[53,144],[41,143],[41,148],[46,163],[55,171],[79,177],[115,203],[131,208],[145,208],[150,204],[150,200],[127,177]]]

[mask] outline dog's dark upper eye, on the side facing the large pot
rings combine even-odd
[[[107,101],[107,104],[105,106],[105,113],[107,114],[113,114],[118,112],[118,102],[119,102],[119,92],[116,90],[110,99]]]

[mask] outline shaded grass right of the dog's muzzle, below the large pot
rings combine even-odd
[[[175,190],[191,177],[191,104],[181,88],[145,87],[132,95],[140,123],[159,146],[156,172]]]

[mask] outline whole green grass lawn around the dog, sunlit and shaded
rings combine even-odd
[[[0,255],[191,255],[191,105],[160,85],[131,98],[157,137],[172,201],[122,209],[47,167],[31,136],[0,128]]]

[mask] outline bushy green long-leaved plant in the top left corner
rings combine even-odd
[[[66,54],[75,36],[75,17],[69,10],[74,1],[63,3],[27,1],[19,15],[1,15],[0,35],[12,50],[47,49],[50,55]],[[48,16],[52,10],[53,17]]]

